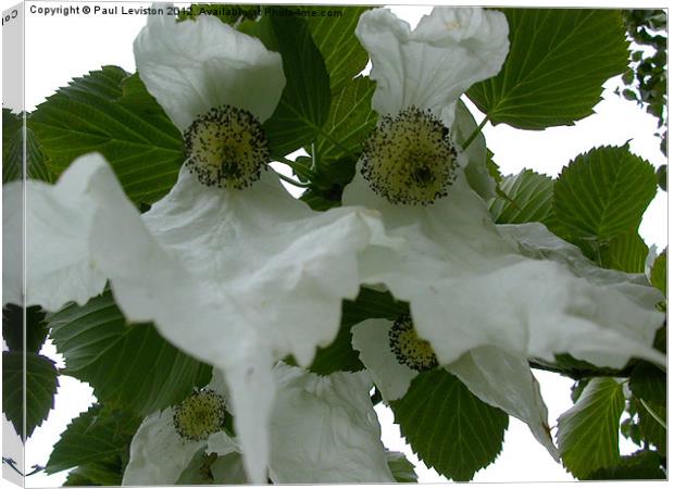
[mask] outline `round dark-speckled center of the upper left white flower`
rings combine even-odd
[[[232,105],[200,115],[184,137],[187,167],[209,187],[249,187],[271,160],[260,121]]]

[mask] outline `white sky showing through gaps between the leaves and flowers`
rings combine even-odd
[[[95,3],[88,2],[90,5]],[[98,4],[102,3],[98,2]],[[3,8],[12,4],[13,2],[2,2]],[[41,3],[41,5],[45,4]],[[53,4],[67,5],[68,3]],[[121,3],[115,2],[115,4]],[[583,3],[566,2],[566,4],[582,5]],[[394,10],[399,16],[414,25],[429,8],[398,7]],[[74,76],[98,70],[102,64],[116,64],[128,72],[135,71],[132,42],[145,24],[142,16],[45,17],[28,14],[26,23],[25,101],[27,110],[33,110],[36,104],[43,101],[45,97],[53,93],[57,87],[66,85]],[[631,140],[633,152],[648,159],[656,167],[666,163],[666,159],[658,149],[659,141],[652,136],[657,128],[654,117],[646,114],[636,104],[625,102],[614,96],[612,89],[615,83],[615,80],[610,80],[607,84],[606,100],[596,108],[597,113],[573,127],[522,131],[506,125],[497,127],[487,125],[485,128],[487,146],[496,153],[496,161],[502,173],[517,173],[523,167],[529,167],[550,176],[557,176],[562,166],[579,152],[600,145],[623,145],[627,140]],[[479,121],[479,115],[476,115],[476,118]],[[648,209],[640,233],[647,244],[656,244],[659,249],[666,246],[665,192],[659,191]],[[47,349],[51,355],[55,355],[52,347],[48,346]],[[553,425],[559,414],[572,405],[569,396],[572,381],[549,373],[537,372],[536,375],[541,383],[542,394],[550,410],[550,422]],[[37,428],[28,440],[27,467],[33,464],[43,465],[47,462],[60,432],[71,418],[86,411],[92,401],[91,389],[88,386],[65,376],[60,377],[60,381],[55,410],[50,414],[49,421]],[[405,447],[400,439],[398,427],[392,424],[390,412],[378,406],[377,413],[384,429],[385,444],[389,449],[404,451],[411,460],[414,459],[409,447]],[[632,448],[625,446],[623,451],[629,452]],[[434,471],[419,463],[417,474],[421,481],[445,480]],[[32,487],[59,486],[64,478],[64,474],[50,477],[36,475],[32,476],[27,482]],[[572,477],[561,465],[550,459],[547,451],[535,441],[523,423],[511,418],[501,455],[495,464],[480,471],[475,480],[561,481],[572,480]]]

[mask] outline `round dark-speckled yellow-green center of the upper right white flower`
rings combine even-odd
[[[363,177],[394,204],[433,203],[457,178],[457,150],[448,134],[437,117],[415,106],[385,116],[365,141]]]

